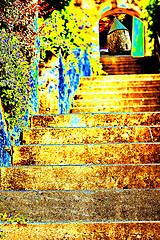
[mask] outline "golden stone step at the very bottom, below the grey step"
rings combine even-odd
[[[6,240],[23,239],[154,239],[159,240],[160,223],[155,222],[76,222],[5,225]],[[45,233],[45,234],[44,234]]]

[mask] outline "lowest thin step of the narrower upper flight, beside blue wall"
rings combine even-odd
[[[159,112],[160,105],[141,106],[102,106],[102,107],[72,107],[69,113],[117,113],[117,112]]]

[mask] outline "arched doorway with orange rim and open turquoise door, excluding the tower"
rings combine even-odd
[[[120,22],[120,25],[122,24],[124,26],[124,29],[128,31],[131,41],[131,49],[128,49],[129,51],[115,51],[115,54],[113,54],[114,51],[109,51],[108,34],[110,33],[110,29],[113,27],[112,24],[115,17]],[[122,37],[121,40],[125,41],[124,37]],[[109,55],[131,55],[133,57],[143,57],[144,26],[143,21],[140,19],[139,13],[134,10],[123,8],[115,8],[103,13],[99,20],[99,45],[100,56],[107,57]]]

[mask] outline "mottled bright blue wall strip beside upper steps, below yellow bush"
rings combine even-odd
[[[91,76],[91,64],[87,50],[85,50],[83,58],[80,58],[81,49],[74,50],[73,54],[78,63],[75,65],[74,62],[71,62],[66,75],[64,74],[63,58],[61,53],[59,54],[59,114],[68,113],[68,110],[71,108],[80,77]],[[69,86],[66,78],[69,78]]]

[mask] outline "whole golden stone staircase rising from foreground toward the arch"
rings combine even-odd
[[[30,222],[6,239],[158,240],[159,97],[160,74],[87,77],[69,114],[31,115],[0,192]]]

